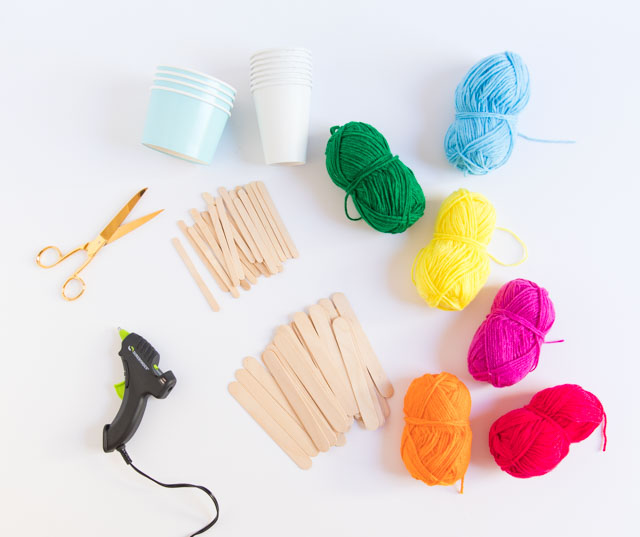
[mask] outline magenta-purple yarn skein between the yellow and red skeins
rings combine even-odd
[[[523,279],[504,284],[471,341],[469,373],[498,388],[519,382],[538,366],[555,318],[546,289]]]

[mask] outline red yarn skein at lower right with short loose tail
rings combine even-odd
[[[507,412],[489,430],[493,458],[514,477],[534,477],[553,470],[569,445],[587,438],[607,415],[598,398],[576,384],[562,384],[535,394],[528,405]]]

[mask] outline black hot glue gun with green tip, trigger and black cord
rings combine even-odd
[[[125,444],[131,440],[140,426],[142,416],[151,395],[156,399],[164,399],[176,385],[176,377],[171,371],[162,372],[158,367],[160,355],[138,334],[118,329],[122,339],[120,358],[124,368],[124,381],[116,384],[115,389],[122,399],[120,409],[113,421],[102,430],[102,448],[106,453],[117,450],[124,461],[140,475],[166,488],[196,488],[206,493],[216,507],[216,516],[204,528],[191,534],[191,537],[207,531],[220,515],[218,501],[211,491],[202,485],[189,483],[162,483],[139,470],[127,453]]]

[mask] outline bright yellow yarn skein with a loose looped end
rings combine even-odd
[[[433,308],[459,311],[471,302],[489,277],[489,260],[505,266],[522,263],[523,258],[507,265],[487,252],[496,211],[481,194],[461,188],[451,194],[440,207],[435,232],[413,261],[412,279],[420,296]],[[503,229],[503,228],[498,228]]]

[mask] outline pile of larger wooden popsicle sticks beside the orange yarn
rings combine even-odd
[[[229,392],[300,468],[343,446],[354,418],[374,430],[389,416],[393,386],[342,293],[278,327],[262,361],[245,358]]]

